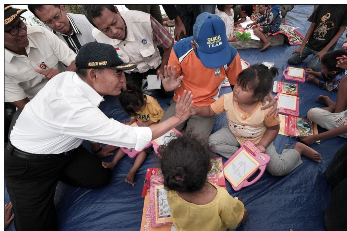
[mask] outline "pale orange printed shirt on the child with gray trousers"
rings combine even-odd
[[[269,104],[269,102],[266,104]],[[259,102],[251,114],[244,112],[240,109],[238,103],[233,100],[232,92],[222,95],[211,104],[211,109],[216,114],[226,112],[230,131],[235,135],[240,145],[247,140],[254,143],[254,145],[258,145],[267,127],[280,124],[279,117],[273,118],[272,115],[269,115],[272,107],[265,110],[261,108],[262,105]]]

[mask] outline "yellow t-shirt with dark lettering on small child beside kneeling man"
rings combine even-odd
[[[160,107],[158,101],[152,96],[145,95],[146,106],[131,116],[131,119],[136,119],[138,122],[142,123],[147,120],[151,120],[154,123],[157,123],[161,117],[164,115],[164,110]]]

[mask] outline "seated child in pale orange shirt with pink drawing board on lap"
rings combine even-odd
[[[213,151],[229,158],[246,140],[253,142],[263,153],[271,157],[266,170],[274,176],[284,176],[302,164],[301,156],[318,163],[321,155],[303,143],[294,149],[285,149],[279,155],[273,140],[279,132],[280,119],[269,115],[271,108],[261,110],[262,100],[272,88],[277,68],[270,70],[263,64],[255,64],[243,70],[236,80],[233,92],[222,95],[210,106],[195,107],[197,115],[212,116],[226,111],[228,125],[210,135]]]

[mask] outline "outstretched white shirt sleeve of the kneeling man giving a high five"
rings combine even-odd
[[[151,140],[149,127],[131,127],[115,119],[108,118],[90,101],[81,102],[82,108],[76,108],[61,127],[61,133],[84,140],[111,144],[141,151]],[[57,115],[56,121],[59,121]],[[62,118],[64,114],[62,115]],[[66,118],[66,117],[65,117]]]

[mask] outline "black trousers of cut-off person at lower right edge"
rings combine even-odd
[[[327,168],[327,180],[332,191],[325,211],[325,226],[329,231],[345,231],[347,227],[347,144],[340,148]]]

